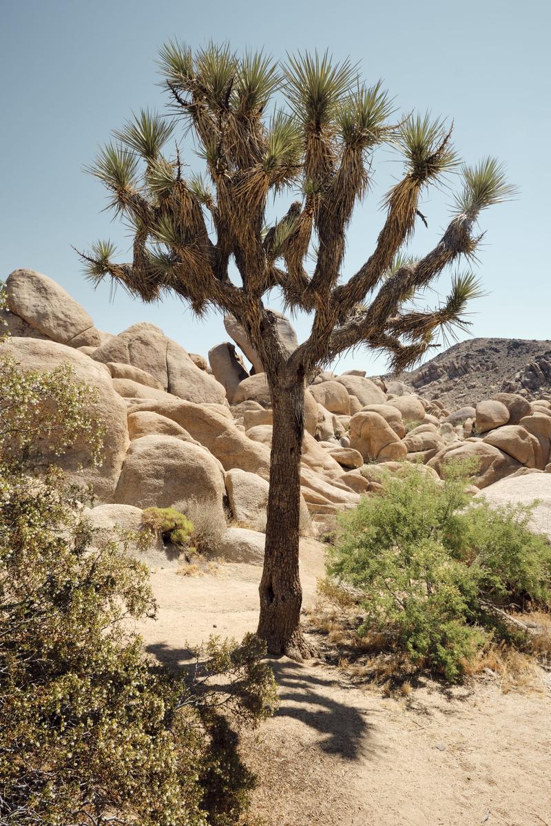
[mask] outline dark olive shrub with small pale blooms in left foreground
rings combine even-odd
[[[2,370],[21,430],[0,429],[0,822],[237,824],[254,786],[238,728],[275,703],[264,643],[212,639],[189,674],[145,657],[124,620],[154,615],[147,568],[93,531],[86,491],[36,465],[40,388],[60,450],[93,428],[74,404],[86,390]]]

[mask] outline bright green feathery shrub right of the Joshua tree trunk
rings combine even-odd
[[[500,609],[551,599],[551,546],[530,531],[531,509],[473,504],[471,470],[451,464],[441,483],[404,465],[340,516],[330,550],[330,575],[361,594],[360,634],[383,632],[451,681],[491,638],[512,638]]]

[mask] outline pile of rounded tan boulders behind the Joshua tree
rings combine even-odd
[[[107,506],[116,515],[125,507],[186,510],[193,501],[224,525],[221,547],[229,558],[260,562],[271,401],[262,363],[235,320],[226,319],[232,341],[213,347],[207,363],[154,325],[132,325],[119,335],[97,330],[88,313],[40,273],[16,270],[6,291],[6,351],[36,369],[67,361],[78,379],[97,387],[97,412],[107,430],[102,466],[78,471],[85,445],[55,461],[70,477],[92,483],[102,525]],[[291,351],[297,336],[279,318]],[[505,477],[551,471],[550,450],[549,399],[498,392],[453,410],[395,378],[324,371],[306,391],[303,528],[377,491],[374,464],[392,472],[411,461],[441,475],[450,458],[476,458],[473,485],[482,489]],[[135,520],[136,510],[131,515]]]

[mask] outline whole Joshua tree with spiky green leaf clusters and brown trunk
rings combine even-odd
[[[473,259],[480,211],[511,188],[493,159],[459,166],[443,121],[409,115],[392,125],[381,83],[363,85],[348,60],[297,55],[282,65],[262,53],[235,55],[227,45],[193,54],[169,42],[159,64],[170,116],[134,116],[90,169],[131,224],[132,262],[116,263],[108,241],[93,244],[83,259],[93,281],[111,276],[144,301],[167,293],[197,314],[216,308],[235,316],[259,353],[273,402],[259,635],[270,652],[302,658],[309,653],[298,573],[305,387],[350,348],[381,350],[399,370],[420,358],[439,328],[464,325],[465,306],[479,294],[472,273],[455,273],[436,309],[420,309],[413,297],[444,268]],[[161,154],[180,120],[192,131],[207,179],[185,174],[178,145],[173,157]],[[373,150],[384,143],[401,154],[403,177],[387,193],[375,249],[347,277],[349,221],[368,190]],[[418,219],[425,221],[421,193],[454,171],[462,183],[444,235],[425,257],[407,258],[404,246]],[[267,227],[270,198],[283,203],[291,193],[297,200]],[[274,287],[287,308],[312,316],[309,337],[292,354],[264,306]]]

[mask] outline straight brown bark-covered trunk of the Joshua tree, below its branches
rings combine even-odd
[[[269,381],[269,377],[268,377]],[[302,587],[298,570],[304,382],[270,382],[273,402],[272,456],[264,571],[260,582],[259,637],[268,652],[311,657],[302,636]]]

